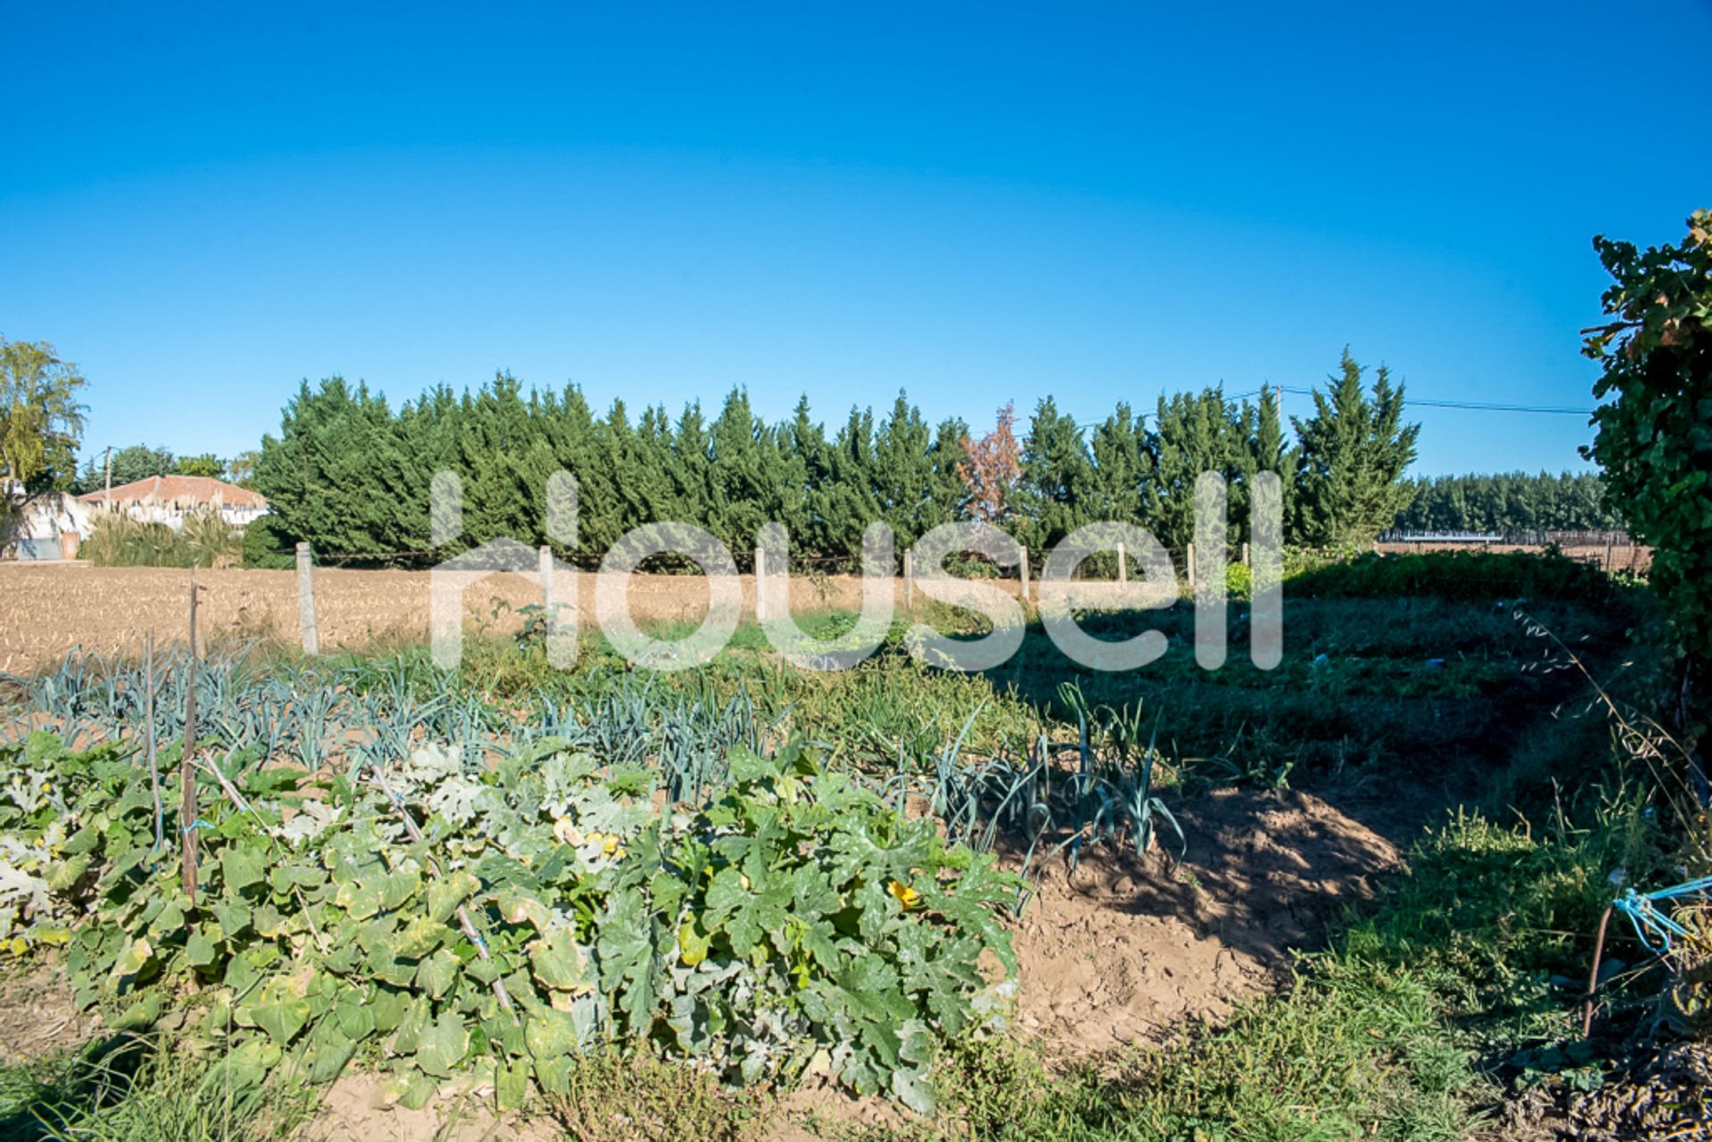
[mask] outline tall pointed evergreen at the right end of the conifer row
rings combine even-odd
[[[1370,543],[1409,505],[1402,474],[1421,426],[1402,423],[1404,389],[1392,389],[1383,365],[1371,397],[1363,372],[1346,348],[1330,392],[1313,394],[1313,416],[1291,418],[1301,442],[1296,536],[1311,546]]]

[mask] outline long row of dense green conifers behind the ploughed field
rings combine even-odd
[[[250,551],[306,539],[322,558],[423,563],[500,536],[548,543],[546,483],[560,469],[575,474],[580,505],[579,543],[558,553],[586,565],[656,520],[698,524],[743,563],[772,520],[789,529],[796,560],[854,560],[873,520],[892,527],[899,550],[938,524],[986,519],[1031,550],[1085,522],[1128,520],[1181,551],[1202,471],[1229,481],[1231,544],[1248,538],[1260,471],[1284,478],[1289,539],[1364,543],[1409,495],[1402,473],[1418,426],[1400,413],[1402,389],[1383,368],[1370,389],[1347,351],[1313,414],[1289,428],[1270,389],[1253,402],[1221,389],[1161,397],[1152,423],[1118,404],[1079,425],[1048,397],[1025,430],[1014,431],[1007,407],[974,435],[960,418],[930,425],[902,392],[885,413],[853,407],[829,428],[806,397],[789,419],[767,423],[741,389],[710,419],[700,404],[632,418],[623,401],[601,416],[575,385],[526,392],[507,373],[397,409],[334,377],[305,382],[279,435],[262,442],[255,486],[274,514],[252,526]],[[428,524],[438,471],[457,473],[464,491],[464,532],[443,548]]]

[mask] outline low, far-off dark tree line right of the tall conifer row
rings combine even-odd
[[[1613,531],[1621,527],[1608,507],[1596,473],[1501,473],[1496,476],[1435,476],[1409,481],[1411,500],[1397,515],[1406,532],[1534,532]]]

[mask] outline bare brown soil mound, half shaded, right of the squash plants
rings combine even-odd
[[[1222,1019],[1400,865],[1390,841],[1311,793],[1224,789],[1176,815],[1181,863],[1159,846],[1140,859],[1092,849],[1075,873],[1051,866],[1024,911],[1017,1022],[1049,1053]]]

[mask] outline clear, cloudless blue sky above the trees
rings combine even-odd
[[[80,363],[86,452],[255,447],[330,373],[979,425],[1347,342],[1590,406],[1590,236],[1712,205],[1712,3],[1286,7],[12,3],[0,334]],[[1416,413],[1423,473],[1589,440]]]

